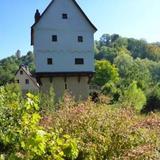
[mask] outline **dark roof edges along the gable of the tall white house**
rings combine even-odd
[[[47,6],[47,8],[44,10],[44,12],[41,14],[40,19],[43,17],[43,15],[47,12],[47,10],[50,8],[50,6],[54,3],[55,0],[52,0],[50,2],[50,4]],[[78,3],[75,0],[72,0],[72,2],[75,4],[75,6],[79,9],[79,11],[82,13],[82,15],[86,18],[86,20],[89,22],[89,24],[93,27],[93,29],[95,31],[97,31],[97,28],[94,26],[94,24],[89,20],[89,18],[87,17],[87,15],[83,12],[83,10],[81,9],[81,7],[78,5]],[[39,19],[39,20],[40,20]],[[33,27],[38,23],[39,21],[35,22],[32,26],[31,26],[31,45],[33,45]]]

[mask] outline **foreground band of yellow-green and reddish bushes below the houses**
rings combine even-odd
[[[48,112],[41,107],[41,98],[30,93],[23,98],[15,85],[0,88],[1,160],[157,160],[160,156],[158,113],[142,116],[129,106],[109,106],[107,97],[100,103],[75,102],[68,93],[56,110]]]

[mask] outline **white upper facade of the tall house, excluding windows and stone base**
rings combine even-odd
[[[33,30],[36,72],[94,72],[96,30],[73,0],[54,0]],[[53,35],[57,42],[52,41]],[[83,42],[78,42],[78,36]],[[53,61],[50,65],[48,58]],[[75,64],[75,58],[82,58],[84,64]]]

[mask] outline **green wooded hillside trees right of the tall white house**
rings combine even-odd
[[[133,96],[135,87],[132,84],[136,83],[136,94],[143,95],[139,101],[143,99],[144,103],[134,101],[142,104],[140,108],[145,108],[142,111],[160,109],[157,92],[160,79],[159,43],[149,44],[145,40],[124,38],[118,34],[104,34],[95,42],[95,59],[98,62],[93,84],[100,85],[101,92],[112,97],[112,103],[121,103],[124,99],[125,102],[126,99],[130,101],[128,104],[133,103],[131,99],[136,97]],[[133,106],[136,107],[135,103]]]

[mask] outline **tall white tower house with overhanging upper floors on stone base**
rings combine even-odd
[[[76,98],[88,97],[96,31],[75,0],[52,0],[42,14],[36,11],[31,45],[42,91],[52,86],[57,97],[65,89]]]

